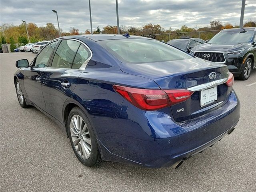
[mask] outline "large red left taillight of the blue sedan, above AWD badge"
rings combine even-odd
[[[187,100],[193,92],[188,90],[153,90],[113,85],[126,100],[142,110],[158,110]]]

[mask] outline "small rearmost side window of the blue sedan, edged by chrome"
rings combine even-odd
[[[74,62],[72,64],[72,69],[79,69],[83,64],[86,66],[86,62],[88,62],[87,59],[90,58],[90,56],[91,53],[88,48],[81,44],[78,48]]]

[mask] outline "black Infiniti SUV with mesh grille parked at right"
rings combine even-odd
[[[234,76],[247,80],[256,68],[256,28],[224,29],[206,44],[195,46],[190,54],[226,64]]]

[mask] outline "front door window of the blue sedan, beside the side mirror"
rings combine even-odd
[[[50,56],[57,44],[58,44],[58,41],[54,41],[54,42],[48,44],[48,46],[46,46],[36,57],[34,66],[35,67],[48,67]]]

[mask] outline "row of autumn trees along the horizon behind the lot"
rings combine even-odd
[[[129,33],[131,35],[148,36],[156,38],[158,40],[167,42],[170,39],[180,38],[181,36],[198,37],[200,31],[209,30],[222,30],[227,28],[238,28],[239,26],[232,25],[230,23],[222,24],[220,20],[214,20],[210,22],[209,26],[198,28],[189,28],[186,25],[181,26],[180,29],[172,30],[172,28],[165,29],[160,24],[146,24],[141,27],[134,26],[121,26],[120,34]],[[256,21],[249,20],[244,24],[244,27],[256,27]],[[38,27],[35,23],[28,23],[28,35],[30,42],[37,42],[42,40],[53,40],[59,36],[58,29],[52,23],[47,23],[46,26]],[[188,33],[193,32],[193,33]],[[79,32],[77,28],[70,28],[68,32],[63,32],[60,29],[62,36],[78,35],[78,34],[91,34],[90,30],[87,29],[85,32]],[[173,33],[173,34],[168,34]],[[200,38],[207,40],[212,38],[218,31],[211,32],[200,32]],[[102,30],[97,26],[93,31],[93,34],[117,34],[117,26],[107,25]],[[154,34],[162,34],[154,36]],[[1,44],[18,43],[24,45],[28,43],[26,26],[24,23],[15,26],[13,24],[2,24],[0,26],[0,48]]]

